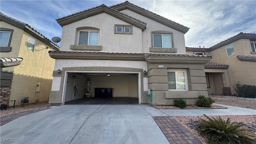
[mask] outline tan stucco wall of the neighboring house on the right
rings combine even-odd
[[[230,84],[234,82],[241,82],[242,84],[256,85],[256,62],[240,61],[236,56],[249,55],[254,56],[256,54],[250,54],[251,46],[249,39],[240,39],[233,42],[235,54],[227,56],[226,46],[222,46],[210,52],[212,55],[211,62],[219,64],[228,64],[228,80]],[[230,86],[231,88],[231,86]],[[231,88],[233,93],[233,89]]]

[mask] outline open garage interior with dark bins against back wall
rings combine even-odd
[[[138,74],[67,73],[65,104],[138,104]]]

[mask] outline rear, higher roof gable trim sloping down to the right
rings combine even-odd
[[[170,28],[173,28],[174,30],[178,30],[180,32],[183,32],[184,34],[186,32],[188,32],[188,30],[189,30],[189,28],[186,27],[186,26],[183,26],[181,24],[178,24],[177,22],[174,22],[172,20],[164,18],[163,16],[160,16],[156,13],[150,12],[149,10],[146,10],[146,9],[144,9],[140,6],[137,6],[135,4],[132,4],[128,1],[110,6],[110,8],[114,8],[115,10],[119,10],[119,11],[125,10],[125,9],[131,10],[131,11],[136,12],[136,13],[142,15],[142,16],[145,16],[146,18],[150,18],[150,19],[152,19],[156,22],[164,24],[164,25],[166,25]]]

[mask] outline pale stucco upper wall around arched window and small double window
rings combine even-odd
[[[142,30],[132,26],[133,34],[114,34],[114,24],[130,25],[109,14],[102,13],[63,26],[60,50],[72,51],[70,45],[78,44],[76,28],[88,26],[100,29],[99,46],[102,46],[100,52],[142,53]]]

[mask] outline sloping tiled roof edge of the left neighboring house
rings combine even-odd
[[[6,16],[2,12],[0,12],[0,19],[1,19],[1,21],[4,21],[8,24],[16,26],[17,28],[20,28],[20,29],[24,30],[28,34],[31,34],[32,36],[34,36],[38,40],[44,42],[45,44],[48,44],[48,46],[52,47],[54,50],[59,50],[59,47],[56,44],[54,44],[51,40],[49,40],[48,38],[46,38],[45,36],[40,34],[38,31],[34,30],[34,28],[29,26],[28,24],[26,24],[24,22],[21,22],[19,20],[16,20],[14,18],[11,18],[9,16]]]

